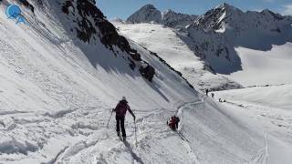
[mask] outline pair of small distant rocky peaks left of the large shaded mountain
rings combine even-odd
[[[181,13],[176,13],[172,10],[167,10],[161,12],[155,8],[154,5],[144,5],[136,11],[134,14],[130,15],[126,22],[130,24],[139,23],[151,23],[170,26],[170,27],[181,27],[190,25],[197,18],[197,15],[186,15]]]

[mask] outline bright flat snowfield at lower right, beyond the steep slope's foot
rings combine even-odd
[[[216,98],[226,99],[223,106],[235,118],[266,134],[266,163],[292,161],[291,89],[282,85],[215,92]]]

